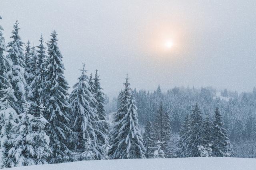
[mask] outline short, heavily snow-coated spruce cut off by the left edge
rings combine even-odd
[[[8,151],[12,147],[10,140],[15,133],[13,127],[19,123],[18,115],[12,108],[12,103],[16,102],[14,90],[12,88],[5,88],[0,90],[2,97],[0,98],[0,168],[10,167],[8,160]]]

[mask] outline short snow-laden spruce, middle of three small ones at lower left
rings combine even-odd
[[[18,115],[20,122],[13,127],[17,134],[10,140],[11,148],[8,151],[8,166],[26,166],[35,165],[34,154],[36,152],[36,143],[34,141],[33,119],[29,114],[30,103],[23,103],[23,112]]]

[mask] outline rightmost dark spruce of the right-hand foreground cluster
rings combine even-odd
[[[226,157],[230,156],[232,150],[230,149],[230,141],[226,129],[224,129],[222,115],[216,107],[214,113],[214,121],[212,123],[212,156]]]

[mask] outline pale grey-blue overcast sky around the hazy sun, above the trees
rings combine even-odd
[[[137,89],[243,92],[256,85],[255,9],[255,0],[0,0],[0,23],[6,43],[16,20],[35,45],[55,29],[70,86],[85,60],[110,96],[126,74]]]

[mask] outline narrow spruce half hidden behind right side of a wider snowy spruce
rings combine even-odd
[[[95,77],[94,77],[94,98],[96,99],[96,109],[99,117],[99,130],[96,129],[96,134],[98,137],[98,143],[100,146],[104,145],[106,136],[109,135],[110,129],[109,129],[109,124],[107,121],[107,115],[106,111],[104,109],[104,103],[105,103],[105,98],[104,98],[104,93],[102,92],[102,88],[100,86],[100,79],[98,76],[98,70],[95,72]]]

